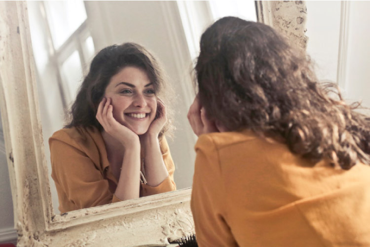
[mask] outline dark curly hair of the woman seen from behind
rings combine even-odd
[[[319,83],[310,59],[273,28],[224,17],[202,35],[195,66],[207,117],[230,131],[274,136],[316,163],[370,163],[369,119],[333,83]],[[210,115],[209,113],[212,113]]]

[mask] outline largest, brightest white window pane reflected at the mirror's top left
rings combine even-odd
[[[55,49],[58,49],[86,20],[83,1],[44,1]]]

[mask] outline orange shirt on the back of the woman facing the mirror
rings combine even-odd
[[[369,247],[370,166],[310,165],[253,132],[201,135],[191,210],[199,247]]]

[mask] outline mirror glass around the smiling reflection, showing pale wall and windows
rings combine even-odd
[[[136,42],[163,64],[175,91],[175,131],[167,138],[176,170],[177,189],[191,187],[196,136],[187,122],[194,97],[192,61],[201,33],[214,20],[240,16],[256,21],[254,1],[28,1],[37,72],[39,112],[46,163],[51,174],[48,139],[66,124],[65,116],[102,48]],[[58,195],[49,176],[54,212]]]

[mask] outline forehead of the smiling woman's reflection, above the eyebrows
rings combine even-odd
[[[147,72],[144,69],[134,66],[127,66],[112,76],[108,87],[115,87],[120,82],[128,82],[134,84],[135,86],[144,86],[150,83],[150,80]]]

